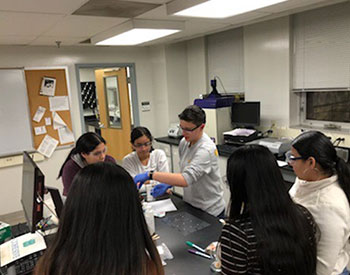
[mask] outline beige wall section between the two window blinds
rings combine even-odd
[[[245,98],[261,101],[262,125],[288,125],[289,52],[289,17],[244,28]]]

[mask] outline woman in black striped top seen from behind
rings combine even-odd
[[[228,159],[227,181],[222,274],[314,275],[316,225],[289,197],[273,154],[260,145],[240,147]]]

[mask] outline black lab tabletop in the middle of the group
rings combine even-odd
[[[218,241],[222,224],[219,219],[184,202],[176,195],[171,196],[177,211],[168,212],[164,218],[156,218],[156,233],[160,236],[157,245],[165,243],[174,258],[166,260],[165,274],[171,275],[214,275],[209,260],[188,253],[186,241],[205,248]]]

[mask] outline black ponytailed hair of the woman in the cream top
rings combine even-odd
[[[337,174],[339,185],[350,203],[350,168],[338,157],[329,138],[318,131],[307,131],[297,136],[292,146],[304,159],[313,157],[325,174]]]

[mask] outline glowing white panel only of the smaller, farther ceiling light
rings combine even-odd
[[[179,32],[179,30],[132,29],[130,31],[97,42],[96,45],[131,46],[165,37],[176,32]]]

